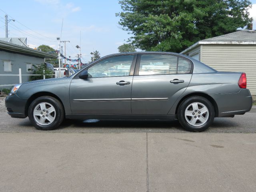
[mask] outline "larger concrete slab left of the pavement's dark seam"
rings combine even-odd
[[[0,134],[1,192],[146,191],[145,134]]]

